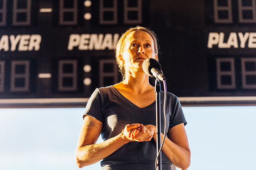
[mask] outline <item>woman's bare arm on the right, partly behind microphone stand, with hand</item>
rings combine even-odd
[[[157,141],[156,127],[154,125],[145,126],[154,134],[153,138]],[[167,136],[162,148],[163,153],[176,167],[186,170],[190,165],[191,153],[184,124],[181,123],[169,129]],[[163,140],[163,133],[161,133],[161,140]]]

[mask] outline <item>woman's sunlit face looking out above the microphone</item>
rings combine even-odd
[[[126,70],[142,68],[145,59],[157,59],[157,54],[154,53],[154,40],[145,31],[132,31],[125,38],[124,45],[124,51],[119,54],[119,59]]]

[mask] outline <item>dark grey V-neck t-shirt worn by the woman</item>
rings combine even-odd
[[[164,130],[163,100],[161,92],[161,131]],[[177,96],[167,93],[167,128],[184,123],[186,119]],[[139,108],[126,99],[113,86],[97,88],[90,97],[84,115],[90,115],[103,123],[102,139],[110,139],[125,128],[127,124],[140,123],[156,125],[155,102]],[[129,142],[101,161],[102,170],[155,170],[156,142]],[[171,170],[172,162],[162,152],[162,169]]]

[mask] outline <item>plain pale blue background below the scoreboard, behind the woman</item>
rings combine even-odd
[[[188,170],[255,167],[256,107],[183,111],[192,151]],[[78,170],[74,151],[83,112],[84,108],[0,109],[0,169]],[[100,170],[100,165],[82,169]]]

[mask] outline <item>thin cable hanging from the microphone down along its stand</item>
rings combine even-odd
[[[157,170],[157,160],[160,156],[160,153],[161,153],[161,150],[163,148],[163,143],[164,143],[164,140],[166,138],[166,92],[167,92],[167,87],[166,87],[166,80],[163,80],[163,88],[164,88],[164,100],[163,100],[163,117],[164,117],[164,134],[163,134],[163,142],[161,143],[161,147],[157,153],[157,158],[156,158],[156,161],[155,161],[155,168]],[[160,116],[161,117],[161,116]],[[161,135],[161,133],[159,134]],[[160,162],[158,162],[159,164]]]

